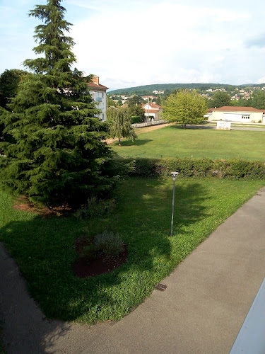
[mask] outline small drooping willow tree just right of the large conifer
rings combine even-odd
[[[129,137],[135,140],[137,135],[134,128],[131,127],[131,117],[128,108],[110,107],[106,111],[107,121],[110,125],[110,136],[119,139],[119,147],[121,146],[122,137]]]

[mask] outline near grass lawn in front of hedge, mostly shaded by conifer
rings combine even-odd
[[[173,237],[171,178],[126,179],[117,191],[117,209],[84,222],[15,210],[13,198],[1,192],[0,241],[49,318],[88,323],[120,319],[264,184],[177,179]],[[105,229],[122,235],[129,248],[127,263],[110,274],[76,278],[71,270],[77,258],[75,239]]]

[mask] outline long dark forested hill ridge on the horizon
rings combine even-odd
[[[199,90],[208,90],[208,89],[225,89],[226,91],[233,91],[235,89],[243,89],[245,87],[255,86],[261,87],[264,84],[245,84],[245,85],[228,85],[228,84],[153,84],[153,85],[144,85],[136,87],[128,87],[126,89],[118,89],[108,91],[110,95],[146,95],[151,94],[153,91],[173,91],[176,89],[199,89]]]

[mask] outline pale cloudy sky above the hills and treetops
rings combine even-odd
[[[0,74],[35,58],[46,0],[0,0]],[[123,89],[265,82],[264,0],[64,0],[77,69]]]

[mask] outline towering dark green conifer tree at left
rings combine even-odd
[[[11,112],[2,115],[13,142],[1,142],[1,180],[46,205],[80,203],[112,185],[105,167],[110,151],[102,142],[107,125],[95,117],[91,77],[71,69],[76,58],[73,40],[65,35],[71,26],[65,11],[61,0],[47,0],[30,11],[42,21],[33,48],[42,57],[25,60],[34,74],[23,81]]]

